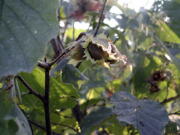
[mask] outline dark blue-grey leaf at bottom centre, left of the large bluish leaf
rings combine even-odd
[[[81,134],[85,135],[92,130],[93,127],[98,126],[103,120],[107,119],[112,114],[109,108],[99,108],[91,112],[81,122]]]

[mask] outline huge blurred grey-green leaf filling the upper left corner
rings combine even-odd
[[[4,3],[3,3],[4,2]],[[0,77],[31,71],[57,32],[58,0],[6,0],[0,3]]]

